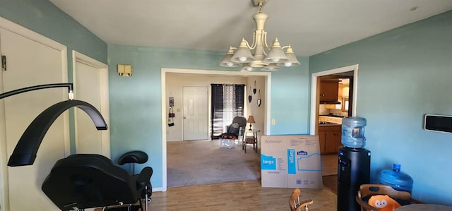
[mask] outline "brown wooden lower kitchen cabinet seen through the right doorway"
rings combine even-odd
[[[333,124],[319,126],[319,146],[321,154],[338,153],[338,149],[342,143],[340,137],[342,135],[341,125]]]

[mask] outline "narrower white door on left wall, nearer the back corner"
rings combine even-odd
[[[109,123],[107,65],[73,52],[74,96],[92,104]],[[97,131],[85,111],[74,110],[76,118],[76,153],[100,154],[110,157],[109,131]]]

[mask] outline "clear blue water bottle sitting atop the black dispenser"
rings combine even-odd
[[[366,145],[364,126],[366,119],[358,116],[349,116],[342,119],[342,144],[345,147],[362,148]]]

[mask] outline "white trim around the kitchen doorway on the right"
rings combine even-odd
[[[309,134],[316,134],[316,114],[317,114],[317,77],[328,76],[335,73],[345,73],[353,71],[353,102],[352,102],[352,116],[356,116],[356,102],[357,102],[357,88],[358,88],[358,64],[344,66],[341,68],[334,68],[327,71],[320,71],[312,73],[311,75],[311,119],[309,126]]]

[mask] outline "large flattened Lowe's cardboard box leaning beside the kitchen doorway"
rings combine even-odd
[[[262,135],[261,183],[273,188],[322,188],[317,135]]]

